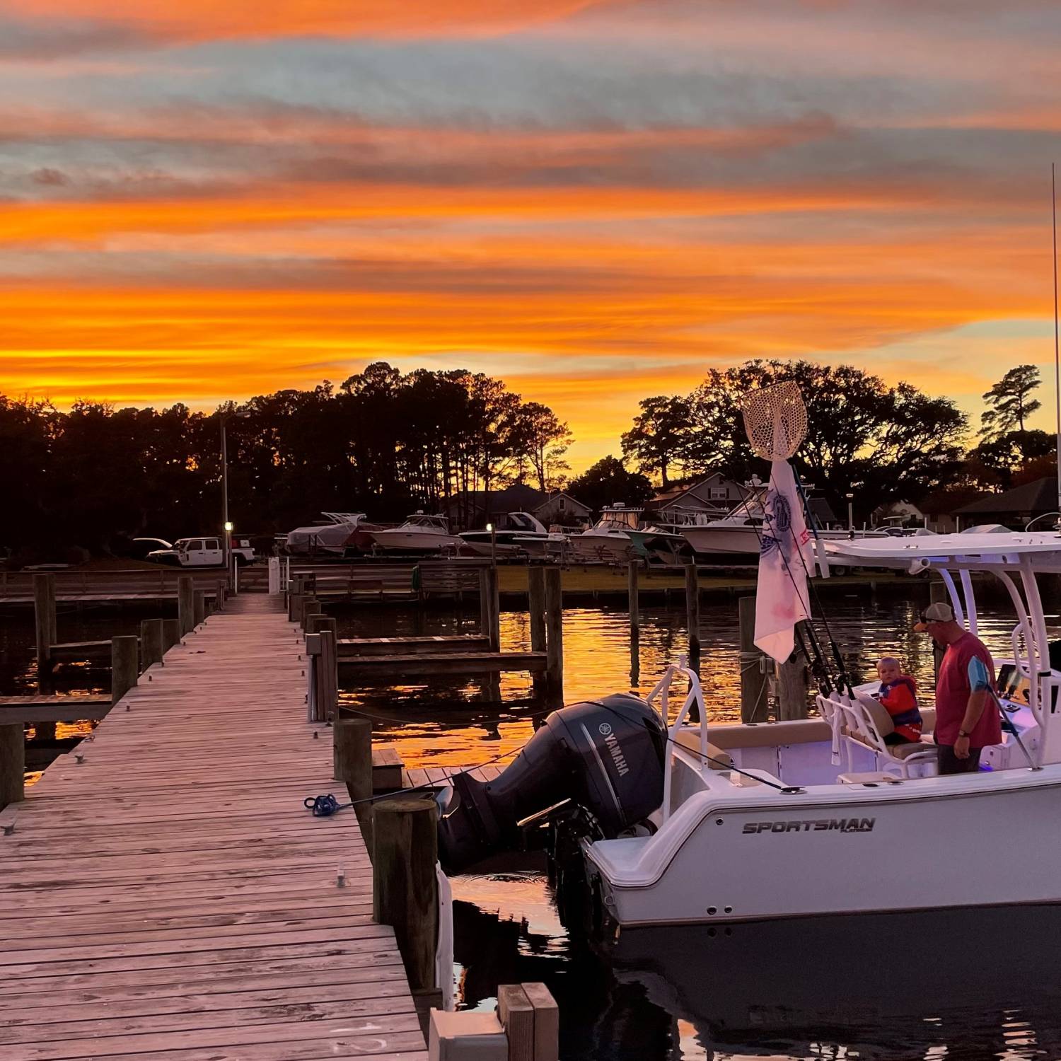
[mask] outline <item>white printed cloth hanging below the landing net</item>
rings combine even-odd
[[[755,645],[783,663],[796,644],[796,624],[808,618],[806,575],[814,563],[803,505],[787,460],[770,466],[770,488],[763,507]]]

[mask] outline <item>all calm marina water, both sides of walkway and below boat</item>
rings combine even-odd
[[[910,595],[867,591],[827,599],[854,677],[869,677],[887,653],[932,689],[930,646],[911,632],[925,599],[921,584]],[[1007,602],[985,604],[981,634],[1006,655]],[[140,618],[62,615],[59,637],[135,632]],[[505,648],[529,647],[525,612],[503,612],[501,621]],[[683,623],[681,609],[643,608],[631,653],[624,609],[566,611],[568,702],[619,690],[646,693],[684,650]],[[340,615],[348,637],[474,626],[471,612],[447,610],[363,608]],[[700,636],[710,715],[733,720],[740,715],[735,602],[705,602]],[[32,691],[32,622],[5,619],[0,693]],[[88,691],[107,680],[82,672],[69,683]],[[528,676],[519,674],[493,685],[439,679],[351,686],[343,699],[371,715],[378,738],[397,745],[410,766],[469,766],[511,751],[542,711]],[[59,727],[59,735],[74,729]],[[460,876],[453,891],[462,1005],[492,1008],[498,984],[543,980],[560,1003],[564,1061],[1061,1058],[1061,907],[643,929],[591,944],[560,923],[544,872]]]

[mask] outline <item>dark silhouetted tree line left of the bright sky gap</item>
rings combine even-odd
[[[272,534],[321,510],[401,519],[462,491],[550,489],[571,439],[545,405],[464,370],[369,365],[338,388],[278,390],[213,413],[0,395],[0,547],[121,553],[140,535],[221,521],[221,425],[237,530]]]

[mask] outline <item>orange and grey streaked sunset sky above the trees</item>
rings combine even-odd
[[[1049,428],[1059,55],[1057,0],[0,0],[0,392],[460,366],[578,469],[751,356],[977,422],[1036,362]]]

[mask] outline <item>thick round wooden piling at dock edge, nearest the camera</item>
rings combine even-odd
[[[435,986],[438,811],[434,799],[396,796],[373,807],[372,918],[390,925],[413,991]]]

